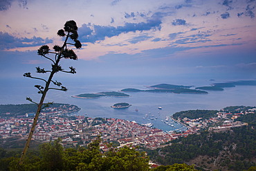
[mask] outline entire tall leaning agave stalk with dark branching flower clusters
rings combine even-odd
[[[37,120],[39,117],[39,114],[42,109],[45,107],[48,107],[49,105],[53,104],[53,102],[47,102],[44,103],[44,98],[46,97],[46,93],[49,89],[55,89],[60,91],[67,91],[66,87],[62,86],[61,82],[53,81],[53,76],[57,72],[65,72],[65,73],[76,73],[75,68],[72,66],[69,67],[70,71],[65,71],[62,69],[62,66],[60,66],[60,60],[62,58],[65,59],[71,59],[71,60],[77,60],[77,55],[72,49],[68,49],[68,45],[73,45],[75,48],[81,48],[82,44],[80,43],[77,34],[77,25],[75,21],[66,21],[66,24],[64,24],[64,29],[58,30],[57,35],[60,37],[64,37],[64,43],[62,46],[55,45],[53,47],[54,51],[51,51],[50,48],[47,45],[41,46],[39,50],[37,51],[37,54],[45,57],[47,60],[51,61],[51,70],[46,71],[45,69],[41,69],[40,67],[37,67],[37,73],[48,73],[48,80],[44,80],[43,78],[37,78],[33,77],[30,73],[24,73],[24,77],[33,78],[37,80],[42,80],[45,83],[45,86],[42,87],[41,85],[35,85],[35,87],[39,90],[38,93],[42,94],[41,100],[39,103],[34,102],[31,98],[26,98],[30,102],[33,102],[37,105],[37,112],[35,114],[35,118],[33,120],[33,125],[30,129],[30,133],[28,134],[28,138],[26,140],[26,144],[24,146],[24,150],[21,154],[21,158],[19,161],[19,164],[22,164],[24,162],[24,157],[26,156],[26,152],[28,151],[31,138],[33,136],[33,133],[35,132],[35,126],[37,125]],[[68,40],[71,39],[73,43],[69,43]],[[53,55],[49,57],[48,55]],[[51,84],[57,86],[56,88],[50,87]]]

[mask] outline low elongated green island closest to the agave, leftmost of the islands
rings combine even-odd
[[[112,97],[129,97],[126,93],[120,93],[116,91],[107,91],[107,92],[100,92],[100,93],[83,93],[77,96],[72,96],[73,98],[100,98],[102,96],[112,96]]]

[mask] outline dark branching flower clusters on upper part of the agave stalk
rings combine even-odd
[[[53,81],[52,78],[53,78],[53,75],[59,71],[62,71],[65,73],[76,73],[75,68],[73,68],[73,66],[69,67],[70,69],[69,71],[65,71],[64,69],[62,69],[62,66],[60,66],[59,62],[62,58],[77,60],[77,55],[75,54],[73,49],[68,48],[68,46],[70,45],[75,46],[75,48],[82,48],[82,44],[77,39],[78,38],[77,29],[78,28],[75,21],[73,20],[66,21],[66,24],[64,24],[64,28],[57,31],[57,35],[59,35],[60,37],[63,37],[64,39],[63,45],[62,46],[55,45],[53,46],[52,50],[48,45],[43,45],[38,49],[37,55],[45,57],[47,60],[50,60],[52,62],[51,64],[52,67],[51,67],[51,70],[45,70],[38,66],[36,67],[37,73],[51,73],[49,80],[33,77],[31,73],[24,73],[24,77],[43,80],[46,83],[52,82],[57,87],[60,87],[60,89],[57,89],[57,90],[66,91],[67,90],[66,87],[63,87],[61,82]],[[73,43],[68,41],[71,41]],[[44,93],[44,91],[48,91],[48,89],[55,89],[55,88],[49,88],[47,86],[46,88],[44,88],[41,85],[35,85],[35,87],[39,89],[38,93]]]

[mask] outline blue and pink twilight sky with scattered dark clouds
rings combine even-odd
[[[255,0],[1,0],[0,79],[49,68],[37,49],[74,20],[82,48],[62,66],[77,78],[255,80],[255,13]]]

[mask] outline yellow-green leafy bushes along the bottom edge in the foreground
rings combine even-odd
[[[60,139],[39,146],[39,152],[29,152],[22,165],[19,163],[19,155],[8,153],[1,149],[0,170],[195,170],[193,166],[186,164],[174,164],[150,168],[149,157],[145,152],[134,147],[115,148],[108,145],[107,152],[100,151],[100,138],[96,138],[88,147],[77,149],[65,149]]]

